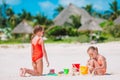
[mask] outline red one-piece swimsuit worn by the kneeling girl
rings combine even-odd
[[[34,45],[32,43],[32,50],[33,50],[33,53],[32,53],[32,61],[33,62],[36,62],[36,60],[40,59],[43,57],[43,51],[42,51],[42,46],[41,44],[39,44],[40,39],[37,40],[37,43],[36,45]]]

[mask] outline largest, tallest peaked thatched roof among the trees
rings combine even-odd
[[[54,25],[63,26],[66,22],[71,23],[70,16],[78,15],[81,16],[81,22],[84,24],[87,20],[91,19],[91,16],[87,11],[82,8],[78,8],[73,4],[69,4],[54,20]]]

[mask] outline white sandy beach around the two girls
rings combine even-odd
[[[99,53],[107,58],[107,73],[104,76],[42,76],[19,77],[19,68],[31,66],[30,44],[24,45],[0,45],[0,80],[120,80],[120,42],[93,44],[99,48]],[[24,48],[23,48],[24,46]],[[91,44],[46,44],[50,67],[44,63],[44,74],[54,68],[56,73],[63,68],[70,68],[72,63],[86,65],[88,55],[87,48]],[[45,62],[45,61],[44,61]]]

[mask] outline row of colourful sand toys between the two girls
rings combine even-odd
[[[87,66],[80,66],[80,64],[72,64],[72,68],[64,68],[63,71],[55,73],[55,69],[50,69],[46,76],[77,76],[88,74]]]

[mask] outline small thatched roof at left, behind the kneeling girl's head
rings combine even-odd
[[[15,34],[31,34],[32,32],[33,32],[32,26],[30,26],[26,21],[22,21],[12,31],[12,33]]]

